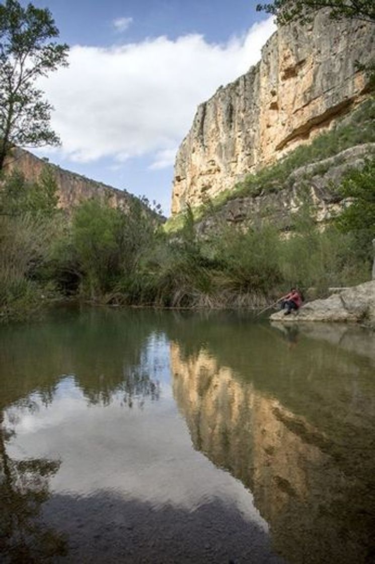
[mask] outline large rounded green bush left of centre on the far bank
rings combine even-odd
[[[95,199],[78,206],[71,235],[65,241],[65,261],[69,270],[76,265],[82,294],[102,299],[107,293],[130,292],[139,261],[153,244],[156,228],[155,219],[135,199],[126,214]],[[61,265],[60,270],[64,270]]]

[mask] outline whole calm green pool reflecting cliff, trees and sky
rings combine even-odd
[[[374,333],[60,309],[0,424],[1,562],[375,562]]]

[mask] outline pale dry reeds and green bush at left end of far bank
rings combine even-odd
[[[39,183],[12,174],[0,191],[0,316],[24,318],[55,294],[44,268],[62,223],[55,180],[43,171]]]

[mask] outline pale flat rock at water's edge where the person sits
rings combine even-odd
[[[375,280],[343,289],[327,299],[315,299],[290,315],[277,311],[270,319],[283,323],[341,321],[362,323],[375,329]]]

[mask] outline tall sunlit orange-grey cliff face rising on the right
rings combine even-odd
[[[175,162],[171,210],[213,197],[327,129],[363,99],[356,60],[375,54],[375,31],[320,12],[280,28],[249,72],[198,107]]]

